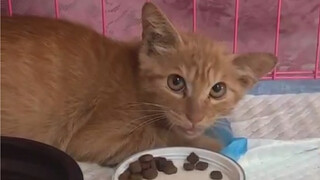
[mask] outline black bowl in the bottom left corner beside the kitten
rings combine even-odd
[[[2,180],[83,180],[66,153],[32,140],[1,136]]]

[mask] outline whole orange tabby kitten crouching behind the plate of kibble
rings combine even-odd
[[[204,130],[277,61],[179,33],[152,3],[133,43],[63,20],[1,20],[1,135],[47,143],[79,161],[111,165],[159,146],[218,151]]]

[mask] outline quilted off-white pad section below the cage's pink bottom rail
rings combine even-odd
[[[246,96],[230,120],[235,136],[320,138],[320,93]]]

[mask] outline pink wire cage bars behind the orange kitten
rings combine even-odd
[[[60,18],[60,8],[59,0],[52,0],[54,4],[54,13],[56,18]],[[106,17],[106,3],[105,0],[100,1],[101,6],[101,32],[103,35],[107,34],[107,17]],[[147,2],[151,0],[146,0]],[[197,31],[197,0],[192,1],[192,30],[193,32]],[[238,51],[238,33],[239,33],[239,9],[240,1],[234,0],[234,24],[233,24],[233,45],[232,49],[234,53]],[[278,56],[279,54],[279,39],[280,39],[280,25],[281,25],[281,12],[282,12],[282,0],[277,1],[277,19],[276,19],[276,28],[275,28],[275,37],[274,37],[274,54]],[[12,0],[7,0],[8,6],[8,15],[13,15],[13,3]],[[320,70],[319,70],[319,59],[320,59],[320,4],[317,7],[319,11],[319,20],[318,20],[318,29],[317,29],[317,43],[316,43],[316,52],[315,52],[315,63],[314,69],[311,71],[279,71],[277,68],[274,69],[272,73],[269,73],[262,79],[266,80],[276,80],[276,79],[319,79]],[[280,59],[281,60],[281,59]]]

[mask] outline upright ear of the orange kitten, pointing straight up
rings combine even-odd
[[[142,8],[142,52],[162,55],[175,50],[181,37],[168,18],[152,3]]]

